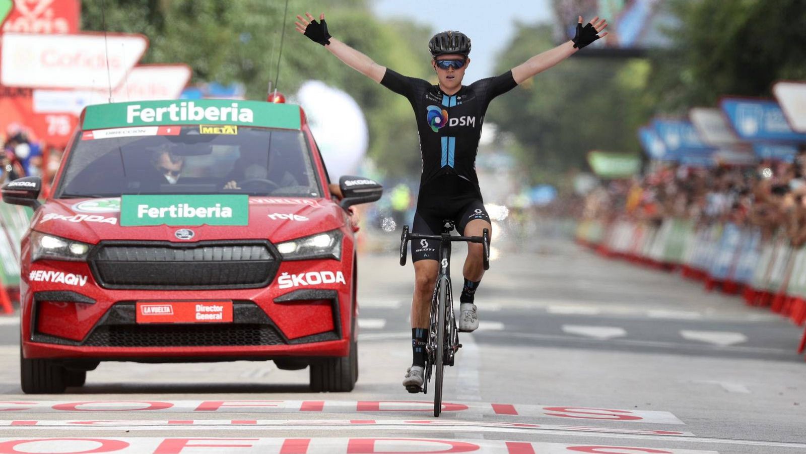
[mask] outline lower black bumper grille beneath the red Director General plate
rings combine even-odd
[[[110,325],[96,328],[85,340],[92,347],[197,347],[280,345],[285,341],[274,327],[229,325]]]

